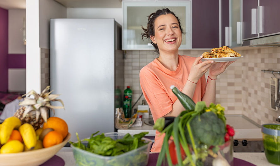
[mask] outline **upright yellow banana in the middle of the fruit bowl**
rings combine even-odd
[[[25,123],[20,126],[19,131],[25,146],[29,150],[33,149],[37,142],[36,131],[34,127],[29,123]]]

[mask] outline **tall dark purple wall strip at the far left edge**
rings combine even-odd
[[[8,91],[8,10],[3,8],[0,8],[0,91]]]

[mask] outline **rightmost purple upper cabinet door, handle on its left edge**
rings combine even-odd
[[[261,21],[260,37],[268,34],[280,33],[280,1],[279,0],[260,0]]]

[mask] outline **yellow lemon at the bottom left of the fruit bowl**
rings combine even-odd
[[[12,140],[8,143],[5,143],[1,149],[0,153],[19,153],[23,151],[23,143],[18,140]]]

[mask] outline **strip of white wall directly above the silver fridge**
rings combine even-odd
[[[67,8],[67,18],[115,18],[122,25],[121,8]]]

